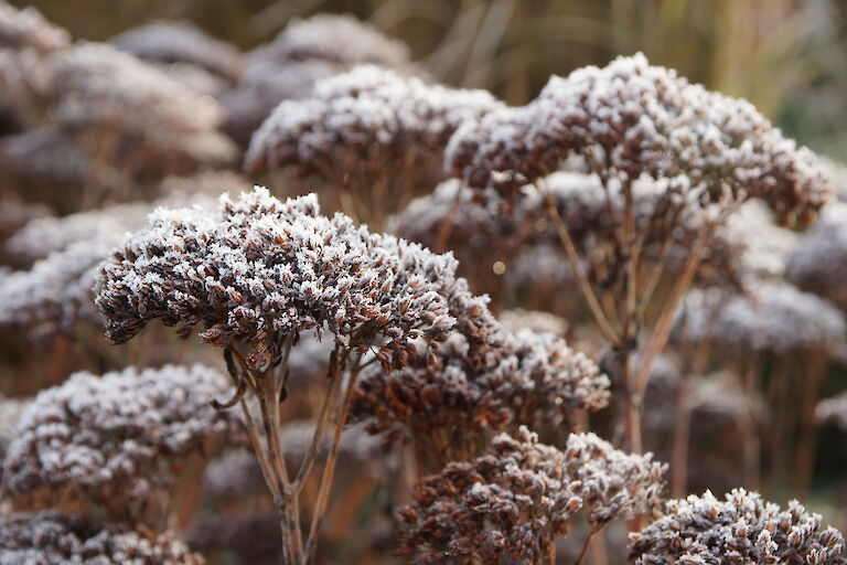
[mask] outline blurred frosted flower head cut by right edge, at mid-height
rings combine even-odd
[[[830,207],[837,209],[830,212]],[[801,237],[791,256],[786,278],[803,290],[834,302],[847,312],[847,215],[845,206],[829,205],[823,218]]]

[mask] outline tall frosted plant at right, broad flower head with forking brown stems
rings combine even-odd
[[[600,285],[586,273],[586,257],[545,181],[573,159],[599,179],[605,222],[614,235],[612,256],[620,265]],[[666,344],[675,311],[715,232],[751,198],[762,199],[786,222],[807,220],[825,202],[829,185],[817,158],[751,104],[651,66],[641,54],[554,76],[528,105],[465,121],[451,138],[446,161],[454,177],[473,188],[518,200],[533,183],[547,202],[575,279],[620,358],[613,380],[626,391],[625,431],[635,450],[641,449],[641,399],[650,365]],[[646,226],[636,191],[645,179],[658,190]],[[677,227],[691,216],[701,227],[658,312],[647,317],[656,288],[652,281],[665,270],[663,256]],[[655,265],[644,260],[647,238],[657,242]],[[641,337],[645,329],[646,340]],[[633,367],[631,355],[640,342],[645,343],[643,361]]]

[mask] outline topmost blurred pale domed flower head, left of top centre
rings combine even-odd
[[[254,51],[251,57],[321,60],[343,65],[369,63],[389,68],[410,64],[405,43],[387,38],[376,28],[347,14],[294,19],[272,43]]]

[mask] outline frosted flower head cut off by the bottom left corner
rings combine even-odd
[[[99,529],[55,511],[0,518],[0,563],[203,565],[172,533]]]

